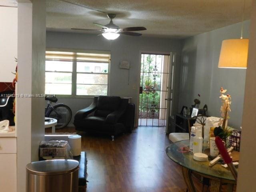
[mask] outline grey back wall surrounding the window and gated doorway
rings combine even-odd
[[[111,51],[110,65],[110,95],[131,96],[132,102],[137,104],[140,81],[140,51],[176,52],[180,56],[180,40],[165,38],[146,38],[121,35],[110,42],[97,34],[78,33],[46,33],[47,48],[70,48],[84,50]],[[128,85],[128,70],[118,67],[121,60],[130,62],[130,82]],[[179,62],[179,60],[178,60]],[[133,89],[135,86],[136,89]],[[88,98],[59,98],[75,112],[89,106],[92,99]],[[73,118],[72,118],[73,122]]]

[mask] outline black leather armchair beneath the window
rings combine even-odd
[[[114,136],[131,132],[134,126],[134,104],[118,96],[95,96],[92,104],[74,116],[76,130]]]

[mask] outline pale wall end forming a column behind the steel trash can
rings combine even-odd
[[[18,2],[18,94],[44,93],[45,0]],[[17,186],[26,190],[26,164],[44,140],[44,98],[17,98]]]

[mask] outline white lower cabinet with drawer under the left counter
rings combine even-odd
[[[15,137],[0,137],[0,191],[16,192],[17,149]]]

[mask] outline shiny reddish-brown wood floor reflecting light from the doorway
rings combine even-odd
[[[104,135],[79,134],[88,160],[87,187],[80,192],[186,192],[181,167],[165,152],[170,144],[165,127],[138,127],[114,141]],[[194,183],[201,191],[202,185]]]

